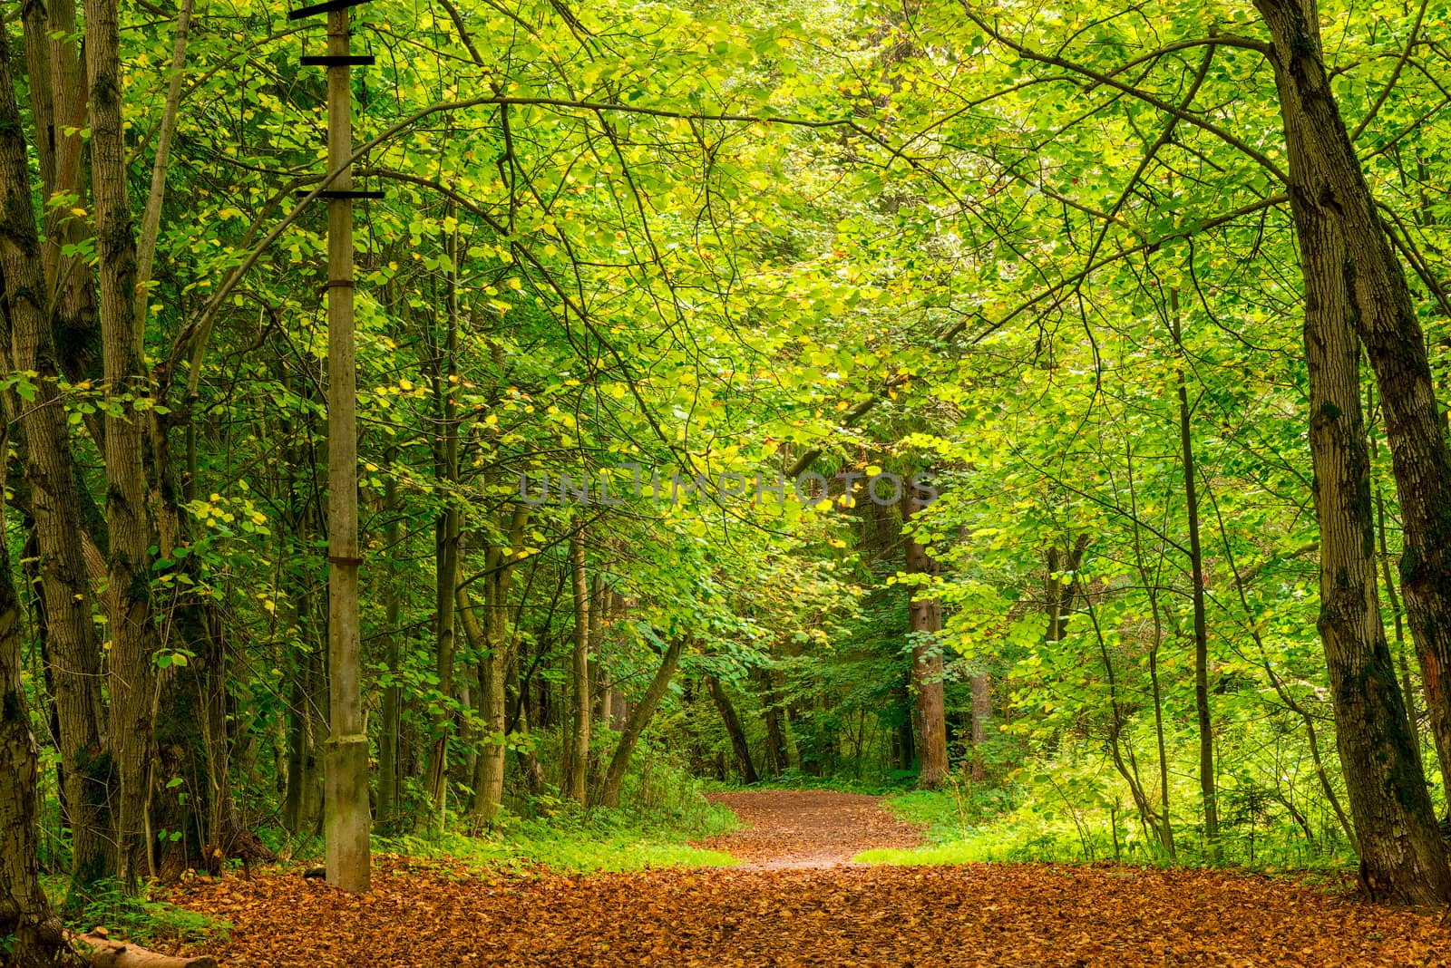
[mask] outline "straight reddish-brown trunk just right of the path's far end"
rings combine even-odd
[[[910,527],[923,509],[916,488],[903,497],[903,542],[908,575],[936,578],[939,565]],[[942,600],[926,587],[908,585],[911,626],[913,733],[917,738],[917,785],[940,787],[948,774],[948,719],[942,690]]]

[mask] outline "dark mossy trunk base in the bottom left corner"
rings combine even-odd
[[[4,42],[0,41],[0,54]],[[0,433],[0,458],[9,435]],[[0,509],[0,939],[6,964],[42,968],[58,964],[64,943],[61,922],[41,887],[36,836],[39,762],[30,712],[20,681],[20,601],[10,572],[10,542]]]

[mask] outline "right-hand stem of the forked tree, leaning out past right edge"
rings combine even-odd
[[[1320,59],[1318,26],[1290,0],[1257,3],[1274,38],[1290,201],[1310,312],[1352,327],[1384,413],[1405,525],[1400,584],[1441,774],[1451,777],[1451,448],[1425,333]],[[1310,4],[1313,7],[1313,4]],[[1312,14],[1313,17],[1313,10]]]

